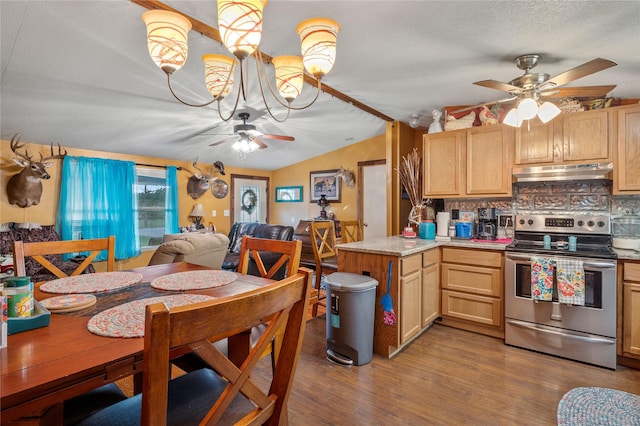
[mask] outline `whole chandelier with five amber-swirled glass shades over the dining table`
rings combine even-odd
[[[171,76],[187,60],[188,33],[191,30],[189,19],[179,13],[166,10],[150,10],[142,15],[147,26],[147,45],[151,59],[167,74],[167,83],[171,94],[181,103],[191,107],[203,107],[218,103],[218,113],[223,121],[231,119],[240,100],[247,100],[247,59],[254,56],[260,95],[271,117],[279,122],[289,117],[291,110],[301,110],[311,106],[321,91],[321,79],[333,67],[336,58],[336,37],[340,25],[328,18],[311,18],[298,24],[302,56],[277,56],[272,59],[275,68],[274,90],[267,77],[266,67],[259,49],[262,36],[262,12],[267,0],[218,0],[218,28],[225,47],[233,54],[228,57],[219,54],[202,56],[205,69],[205,84],[213,97],[203,104],[193,104],[181,99],[171,86]],[[235,84],[235,69],[239,68],[239,88],[228,116],[223,116],[220,102],[227,97]],[[292,102],[302,92],[304,70],[307,70],[317,82],[317,91],[313,99],[303,106],[293,106]],[[287,110],[284,118],[274,116],[265,95],[264,83],[272,97]]]

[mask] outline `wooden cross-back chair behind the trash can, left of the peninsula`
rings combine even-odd
[[[318,301],[314,303],[312,315],[318,316],[318,305],[325,299],[323,290],[320,288],[322,284],[322,275],[331,274],[338,270],[338,258],[336,255],[336,230],[334,223],[328,221],[311,222],[311,245],[313,247],[313,256],[316,261],[316,278],[314,287],[318,291]],[[324,293],[326,294],[326,293]]]

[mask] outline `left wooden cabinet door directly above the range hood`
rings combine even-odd
[[[553,152],[553,122],[534,122],[516,129],[515,164],[550,164]]]

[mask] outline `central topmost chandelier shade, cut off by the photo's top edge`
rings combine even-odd
[[[252,55],[262,38],[262,11],[267,0],[218,0],[222,43],[236,58]]]

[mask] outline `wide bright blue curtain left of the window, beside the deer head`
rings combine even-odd
[[[63,240],[115,235],[116,259],[138,256],[140,238],[131,161],[66,156],[56,227]],[[106,259],[106,251],[98,260]]]

